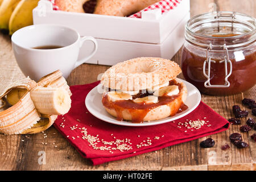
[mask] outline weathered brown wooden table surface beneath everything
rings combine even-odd
[[[183,0],[188,1],[188,0]],[[256,16],[255,0],[191,0],[191,16],[212,11],[233,10]],[[177,52],[172,60],[180,63],[181,51]],[[170,57],[171,59],[171,57]],[[0,92],[10,82],[24,77],[16,64],[9,36],[0,34]],[[99,73],[104,73],[109,67],[102,65],[82,64],[76,68],[68,78],[69,85],[88,84],[97,80]],[[183,78],[182,75],[179,76]],[[202,95],[201,100],[209,105],[224,118],[230,118],[232,106],[241,105],[243,98],[256,98],[256,86],[249,91],[234,96],[214,97]],[[245,109],[245,108],[242,108]],[[249,115],[253,117],[252,115]],[[254,117],[255,119],[255,117]],[[245,124],[242,119],[242,124]],[[212,137],[216,144],[212,148],[200,148],[200,138],[191,142],[176,144],[157,152],[148,152],[131,158],[92,166],[65,140],[60,133],[50,127],[45,133],[29,135],[0,135],[0,170],[255,170],[256,143],[250,139],[249,133],[242,133],[242,138],[250,147],[238,149],[229,141],[229,135],[239,132],[238,126]],[[24,142],[22,142],[24,140]],[[43,145],[42,142],[48,143]],[[53,144],[57,147],[55,148]],[[231,147],[222,151],[222,144],[228,143]],[[38,163],[39,151],[46,152],[46,164]],[[167,155],[169,154],[169,155]]]

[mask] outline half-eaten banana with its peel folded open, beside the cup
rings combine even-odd
[[[57,114],[67,113],[70,96],[60,71],[43,77],[38,84],[30,78],[15,82],[0,95],[0,133],[32,134],[48,129]]]

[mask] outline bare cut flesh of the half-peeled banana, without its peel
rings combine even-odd
[[[31,99],[42,114],[66,114],[71,108],[71,98],[63,88],[37,87],[31,90]]]

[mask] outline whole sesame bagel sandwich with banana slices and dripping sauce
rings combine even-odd
[[[187,98],[174,61],[139,57],[118,63],[101,77],[102,105],[119,121],[141,123],[175,115]]]

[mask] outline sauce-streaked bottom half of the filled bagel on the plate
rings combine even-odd
[[[132,121],[135,123],[143,121],[155,121],[163,118],[167,118],[170,115],[175,115],[179,111],[180,107],[184,105],[187,98],[187,88],[183,82],[179,82],[180,92],[171,102],[165,103],[163,105],[150,104],[150,109],[127,109],[125,107],[118,109],[106,107],[105,110],[113,115],[113,117],[118,118],[118,120]]]

